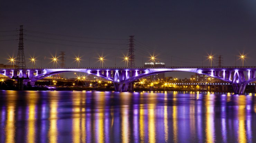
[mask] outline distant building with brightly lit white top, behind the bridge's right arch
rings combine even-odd
[[[146,62],[144,64],[144,67],[165,67],[164,62]],[[158,73],[155,75],[148,76],[147,79],[150,79],[151,81],[162,81],[165,79],[165,73]]]

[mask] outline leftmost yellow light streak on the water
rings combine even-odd
[[[7,91],[7,120],[6,120],[6,142],[11,143],[15,139],[15,100],[17,91]]]

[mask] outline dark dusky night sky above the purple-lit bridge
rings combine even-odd
[[[103,66],[115,66],[115,59],[117,66],[126,66],[121,58],[127,55],[129,35],[136,39],[136,66],[153,53],[166,66],[202,66],[202,58],[203,66],[210,66],[206,56],[211,53],[222,55],[224,66],[235,66],[236,55],[243,52],[244,65],[256,66],[255,7],[256,0],[11,0],[0,4],[0,31],[19,25],[28,30],[24,31],[28,67],[33,55],[36,66],[41,60],[43,66],[54,66],[49,58],[60,51],[66,52],[66,66],[77,66],[73,58],[78,54],[83,60],[80,66],[89,66],[89,57],[90,66],[100,66],[99,55],[105,56]],[[7,64],[8,55],[17,56],[18,41],[1,41],[18,39],[6,36],[17,34],[0,32],[0,63]]]

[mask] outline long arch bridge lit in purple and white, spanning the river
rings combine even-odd
[[[35,84],[42,78],[63,72],[82,72],[113,82],[115,91],[132,90],[132,82],[149,75],[163,72],[192,72],[208,75],[230,83],[236,94],[243,94],[246,85],[256,80],[255,66],[244,67],[65,67],[65,68],[1,68],[0,74],[12,77],[28,77],[24,83]]]

